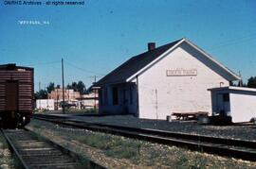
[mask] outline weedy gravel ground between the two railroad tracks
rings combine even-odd
[[[256,162],[32,120],[27,126],[107,168],[256,168]]]

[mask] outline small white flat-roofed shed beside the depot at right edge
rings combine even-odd
[[[212,115],[231,116],[233,123],[248,122],[256,117],[256,89],[229,86],[209,91]]]

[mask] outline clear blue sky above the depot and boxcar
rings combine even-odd
[[[255,27],[254,0],[85,0],[76,7],[6,6],[3,0],[0,64],[34,67],[38,89],[39,82],[42,88],[61,84],[64,58],[65,83],[82,80],[89,87],[92,76],[144,52],[147,42],[186,37],[247,81],[256,76]]]

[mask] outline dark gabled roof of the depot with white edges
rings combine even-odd
[[[132,79],[134,79],[134,77],[136,77],[137,75],[140,75],[151,65],[155,64],[155,62],[158,59],[165,57],[176,46],[178,46],[182,42],[187,42],[193,48],[195,48],[197,51],[202,53],[206,58],[210,59],[218,67],[220,67],[225,72],[227,72],[229,74],[230,78],[232,78],[232,80],[241,79],[239,76],[237,76],[233,72],[231,72],[227,67],[225,67],[224,65],[222,65],[215,59],[212,59],[212,57],[210,57],[210,55],[208,55],[202,49],[200,49],[199,47],[194,45],[192,42],[189,42],[188,40],[183,38],[183,39],[177,40],[175,42],[170,42],[168,44],[159,46],[159,47],[155,48],[154,50],[144,52],[144,53],[139,54],[131,59],[128,59],[123,64],[121,64],[118,68],[116,68],[114,71],[112,71],[108,75],[102,77],[93,86],[97,87],[97,86],[102,86],[102,85],[117,84],[117,83],[124,83],[124,82],[128,82],[128,81],[132,81]]]

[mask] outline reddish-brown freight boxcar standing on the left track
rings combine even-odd
[[[34,69],[0,65],[0,124],[24,127],[33,110]]]

